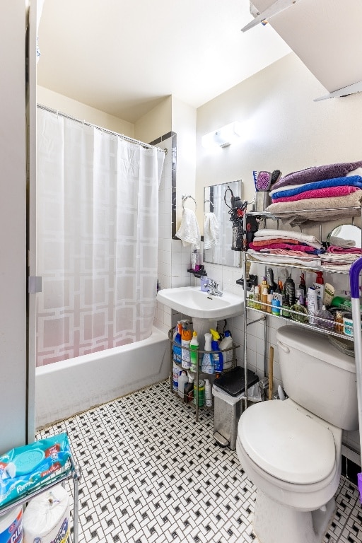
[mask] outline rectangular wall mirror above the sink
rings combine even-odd
[[[231,250],[233,225],[224,200],[228,187],[234,196],[243,199],[240,180],[204,187],[204,262],[240,267],[241,252]],[[230,191],[226,195],[226,202],[230,205]]]

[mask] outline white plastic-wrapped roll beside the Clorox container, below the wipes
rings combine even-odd
[[[36,496],[23,514],[24,543],[66,543],[69,513],[69,494],[62,485]]]

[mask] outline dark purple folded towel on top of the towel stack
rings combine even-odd
[[[299,170],[298,172],[284,175],[284,177],[281,177],[271,188],[275,190],[280,189],[281,187],[287,187],[288,185],[303,185],[304,183],[333,179],[334,177],[345,177],[347,173],[356,170],[356,168],[361,168],[361,166],[362,161],[326,164],[323,166],[306,168],[305,170]]]

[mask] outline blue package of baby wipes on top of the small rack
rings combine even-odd
[[[0,455],[0,507],[25,496],[65,469],[71,456],[66,433],[37,440]]]

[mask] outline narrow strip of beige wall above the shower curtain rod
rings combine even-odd
[[[96,110],[94,107],[72,100],[67,96],[50,91],[49,88],[37,86],[37,103],[46,105],[53,110],[66,113],[76,119],[84,119],[86,122],[103,127],[117,134],[134,137],[134,125],[113,115]]]

